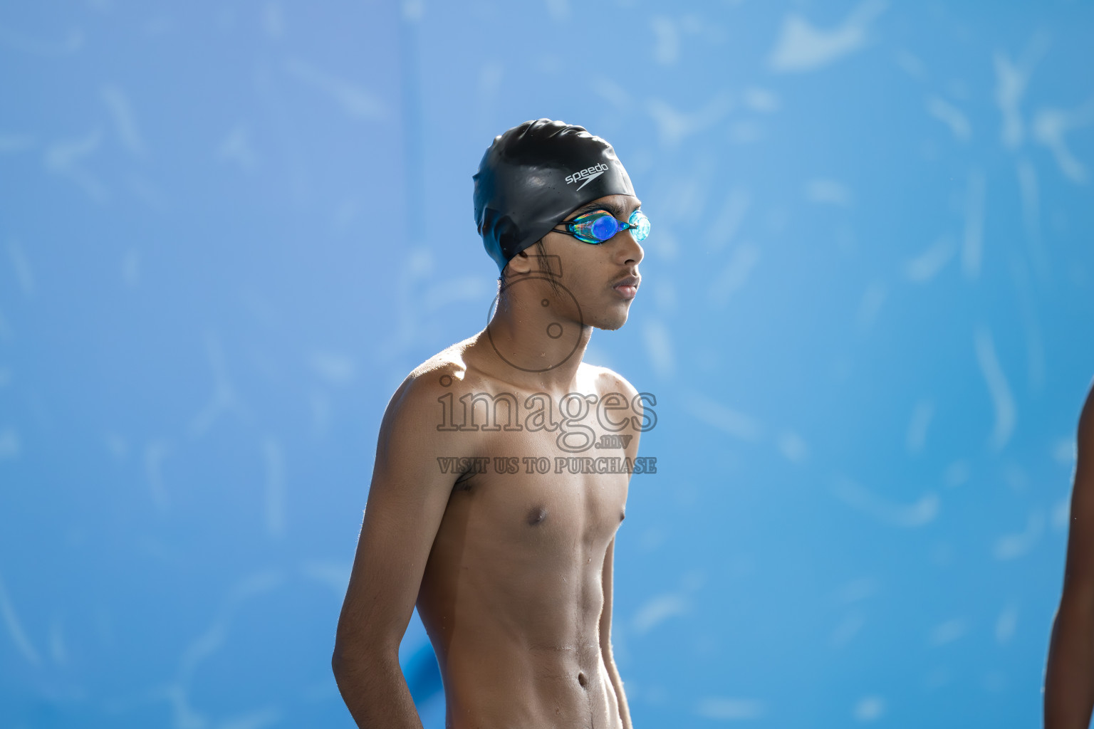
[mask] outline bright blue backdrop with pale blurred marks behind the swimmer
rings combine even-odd
[[[653,221],[636,727],[1037,726],[1094,339],[1091,2],[5,2],[0,724],[348,727],[380,418],[551,117]],[[400,656],[443,725],[417,618]]]

